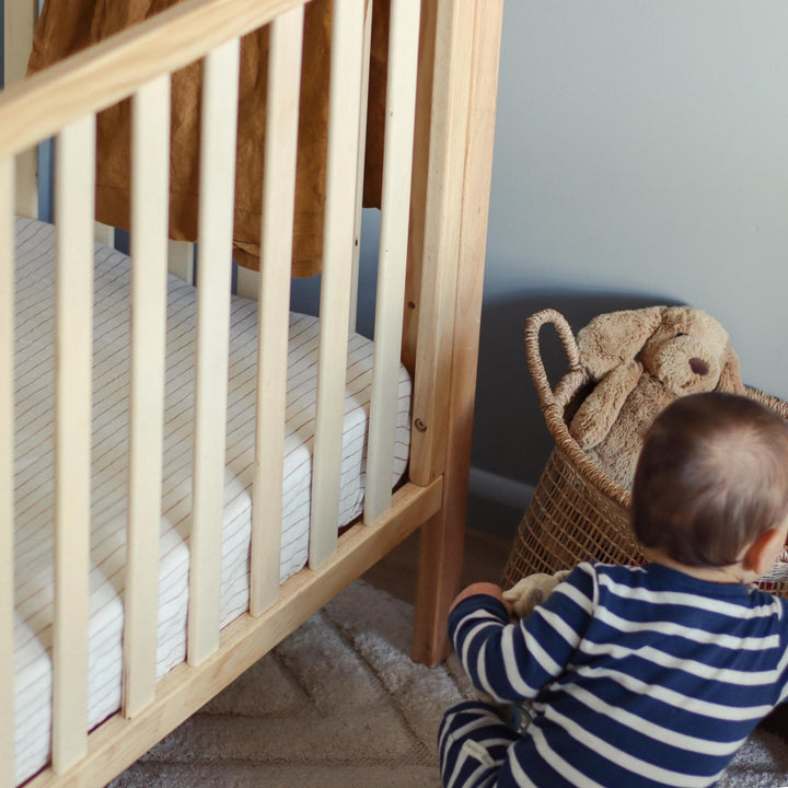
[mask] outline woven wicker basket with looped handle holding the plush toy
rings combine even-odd
[[[552,389],[540,352],[540,331],[553,324],[564,346],[569,371]],[[525,327],[525,354],[555,449],[518,528],[503,572],[510,588],[534,572],[553,573],[580,560],[611,564],[639,563],[640,548],[629,526],[629,491],[583,452],[567,425],[591,381],[580,364],[575,336],[555,310],[532,315]],[[788,404],[748,387],[748,396],[788,418]],[[761,587],[788,596],[788,561],[784,558],[761,581]]]

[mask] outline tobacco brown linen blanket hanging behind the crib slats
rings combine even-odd
[[[47,0],[36,26],[28,73],[179,1]],[[363,194],[368,207],[380,207],[389,3],[390,0],[373,0]],[[304,16],[293,276],[312,276],[321,270],[331,42],[332,0],[314,0],[306,4]],[[267,28],[245,36],[241,44],[233,254],[240,265],[253,269],[259,269],[267,61]],[[201,73],[202,67],[198,62],[172,79],[170,237],[181,241],[197,240]],[[99,116],[96,219],[121,229],[128,229],[130,223],[130,128],[129,101],[109,107]]]

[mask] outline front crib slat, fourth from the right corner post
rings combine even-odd
[[[235,38],[205,59],[188,611],[188,661],[193,665],[219,647],[239,49]]]

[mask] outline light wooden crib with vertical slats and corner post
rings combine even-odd
[[[308,2],[185,0],[22,80],[37,3],[5,0],[9,86],[0,94],[0,788],[20,780],[34,788],[105,785],[419,526],[414,656],[436,663],[445,653],[445,614],[462,558],[501,2],[391,1],[363,514],[338,535],[348,326],[354,325],[357,299],[358,162],[369,14],[366,22],[364,0],[334,0],[309,563],[280,584],[296,131]],[[241,277],[241,290],[259,294],[256,306],[246,302],[239,308],[256,314],[256,407],[247,418],[254,462],[250,488],[242,490],[251,501],[251,538],[243,547],[248,595],[246,612],[223,626],[222,561],[217,557],[223,555],[239,40],[264,25],[270,25],[270,54],[260,185],[263,264],[258,277]],[[187,659],[158,675],[157,578],[162,485],[167,480],[162,478],[166,270],[169,258],[171,268],[184,259],[183,247],[167,242],[170,74],[199,59],[204,93],[189,468],[194,493],[183,518],[188,524]],[[126,541],[116,589],[123,609],[121,702],[94,725],[88,710],[95,570],[91,451],[97,429],[92,397],[103,383],[92,381],[93,287],[94,276],[103,276],[99,258],[116,254],[94,247],[106,232],[93,221],[95,118],[129,96],[130,257],[144,265],[138,263],[129,274],[128,447],[123,447],[128,473],[120,494]],[[48,230],[14,217],[37,216],[35,150],[49,138],[56,140],[54,489],[51,510],[44,517],[47,538],[54,541],[54,582],[43,593],[51,594],[54,603],[46,630],[50,642],[40,648],[51,669],[51,735],[48,765],[20,775],[11,766],[20,741],[16,726],[25,715],[19,699],[14,702],[14,627],[21,615],[14,612],[21,495],[14,452],[20,440],[15,420],[25,404],[15,393],[14,370],[18,346],[26,335],[20,336],[14,315],[24,308],[16,303],[19,233],[28,237]],[[413,429],[407,472],[392,491],[401,362],[413,379]]]

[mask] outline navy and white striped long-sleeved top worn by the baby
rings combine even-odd
[[[449,631],[474,684],[534,698],[496,785],[712,785],[788,694],[787,607],[657,564],[580,564],[514,625],[464,600]]]

